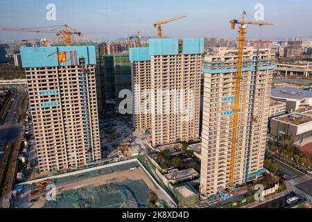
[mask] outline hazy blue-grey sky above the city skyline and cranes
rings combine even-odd
[[[46,20],[46,5],[56,6],[56,20]],[[293,37],[312,35],[311,0],[1,0],[0,28],[33,28],[69,24],[82,32],[109,32],[85,35],[114,40],[141,31],[156,35],[153,23],[187,15],[165,24],[171,37],[236,37],[229,20],[239,19],[246,10],[254,15],[254,5],[264,6],[265,22],[274,26],[250,27],[248,37]],[[0,39],[52,38],[53,34],[0,31]]]

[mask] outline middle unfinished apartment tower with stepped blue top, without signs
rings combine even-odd
[[[199,139],[203,39],[153,39],[130,48],[134,124],[152,145]]]

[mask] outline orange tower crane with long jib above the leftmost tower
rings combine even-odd
[[[41,27],[41,28],[54,28],[54,29],[44,30],[44,29],[37,29],[37,28],[2,28],[2,31],[19,31],[19,32],[30,32],[30,33],[54,33],[58,37],[58,39],[66,43],[67,46],[71,45],[72,35],[78,35],[79,37],[83,35],[83,33],[76,31],[76,29],[71,28],[67,24],[64,24],[63,26],[49,26],[49,27]]]

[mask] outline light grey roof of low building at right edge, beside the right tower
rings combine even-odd
[[[272,89],[271,97],[279,99],[294,99],[301,101],[306,98],[311,98],[312,92],[304,89],[297,89],[295,87],[278,87]]]

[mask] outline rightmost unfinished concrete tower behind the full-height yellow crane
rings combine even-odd
[[[255,180],[263,169],[272,65],[270,49],[245,47],[234,184]],[[215,48],[205,56],[200,192],[216,194],[229,184],[237,50]]]

